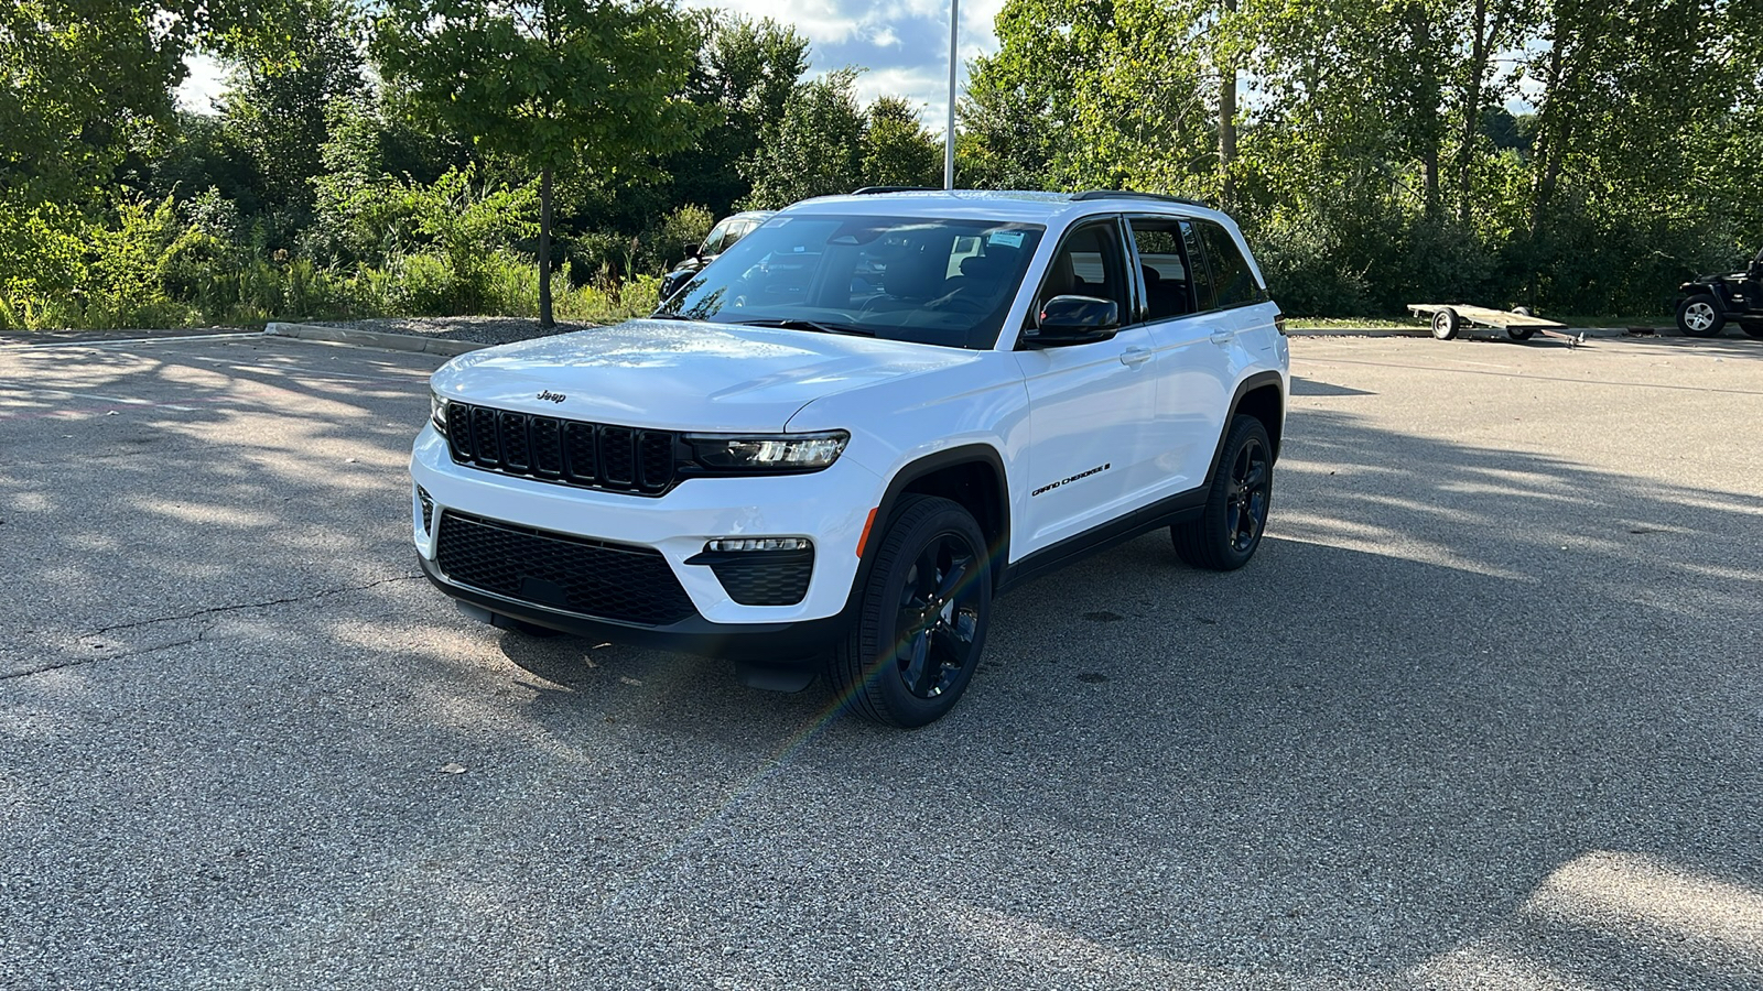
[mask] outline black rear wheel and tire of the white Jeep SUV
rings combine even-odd
[[[1194,568],[1236,571],[1255,555],[1273,501],[1273,444],[1268,428],[1239,414],[1213,471],[1199,518],[1169,527],[1176,555]]]

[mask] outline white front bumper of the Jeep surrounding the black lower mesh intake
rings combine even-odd
[[[792,628],[818,628],[820,621],[836,621],[846,612],[864,524],[883,492],[882,480],[852,458],[811,474],[695,478],[659,497],[599,492],[455,464],[446,441],[432,427],[416,441],[411,478],[432,503],[425,525],[421,499],[413,490],[413,540],[423,571],[448,594],[541,626],[721,656],[732,652],[735,638],[788,647]],[[682,622],[638,626],[562,612],[541,601],[506,598],[451,580],[435,561],[434,536],[448,510],[550,534],[652,548],[691,600],[695,615]],[[800,601],[740,605],[730,596],[716,570],[705,563],[703,550],[710,540],[739,536],[813,541],[815,566]],[[807,638],[818,640],[822,633]]]

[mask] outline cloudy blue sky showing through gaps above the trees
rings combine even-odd
[[[938,138],[948,109],[948,0],[684,0],[691,7],[721,7],[753,19],[793,23],[809,41],[809,74],[853,65],[857,95],[906,97]],[[961,0],[961,62],[998,49],[993,18],[1003,0]],[[178,101],[206,111],[224,88],[224,69],[206,55],[187,60],[190,76]],[[961,71],[966,85],[966,67]]]

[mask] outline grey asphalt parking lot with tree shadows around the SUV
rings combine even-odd
[[[457,614],[439,358],[0,346],[0,987],[1763,987],[1763,344],[1292,353],[901,734]]]

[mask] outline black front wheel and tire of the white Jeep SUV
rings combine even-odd
[[[978,667],[991,619],[986,534],[959,503],[901,499],[827,677],[846,712],[885,726],[943,718]]]

